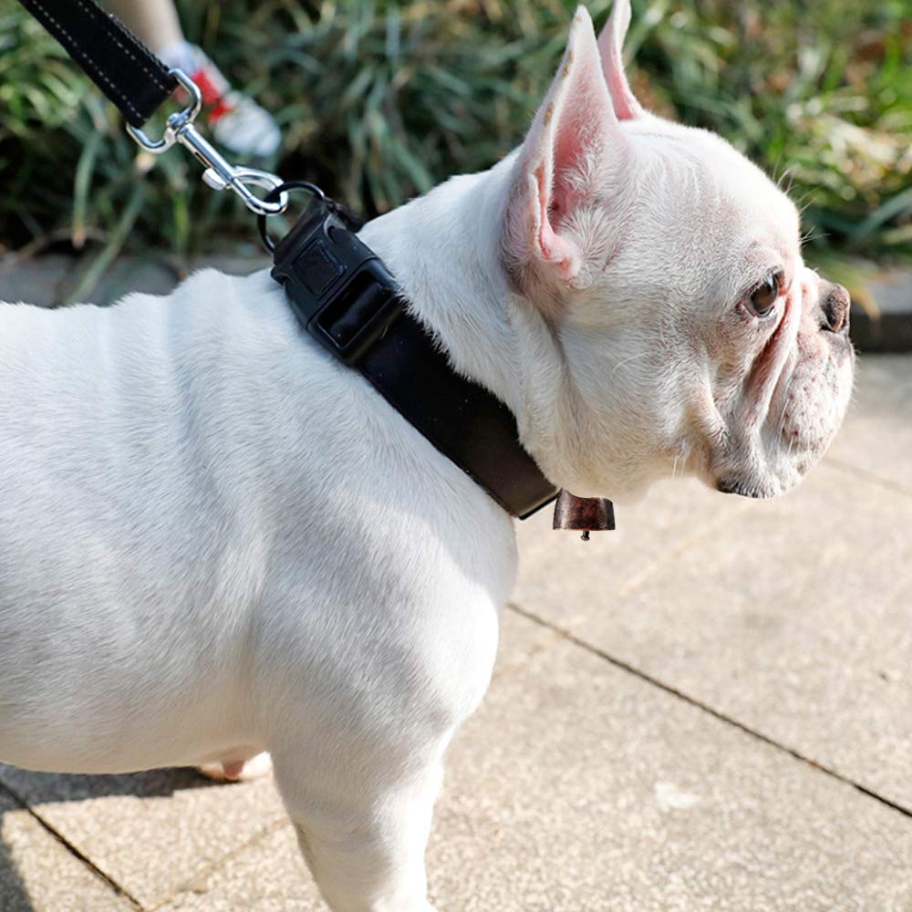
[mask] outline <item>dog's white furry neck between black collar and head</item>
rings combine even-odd
[[[453,367],[513,411],[523,443],[542,463],[544,427],[559,426],[542,412],[559,398],[565,370],[551,327],[515,293],[502,262],[514,158],[452,178],[368,223],[359,236],[389,266],[415,316],[440,337]]]

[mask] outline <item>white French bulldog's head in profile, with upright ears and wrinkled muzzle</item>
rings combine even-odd
[[[684,472],[774,496],[845,414],[848,295],[804,266],[798,212],[762,171],[639,107],[620,62],[629,16],[616,0],[596,45],[577,12],[515,157],[504,262],[566,365],[551,420],[539,403],[523,433],[579,496]]]

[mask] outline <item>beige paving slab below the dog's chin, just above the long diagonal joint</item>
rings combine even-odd
[[[625,597],[555,558],[563,601],[521,604],[560,623],[601,601],[576,637],[912,809],[910,530],[912,497],[824,465]]]

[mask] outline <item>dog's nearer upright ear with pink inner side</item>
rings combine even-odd
[[[504,236],[513,275],[527,278],[531,271],[549,285],[573,284],[586,244],[572,216],[596,198],[596,180],[622,144],[592,19],[580,6],[513,172]]]

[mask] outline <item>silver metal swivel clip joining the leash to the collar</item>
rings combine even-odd
[[[171,69],[173,76],[190,93],[190,104],[181,111],[169,115],[161,140],[150,140],[139,127],[127,125],[127,132],[140,146],[153,155],[161,155],[176,142],[191,150],[193,158],[202,164],[202,180],[212,190],[230,188],[244,201],[244,205],[257,215],[278,215],[288,208],[288,193],[280,192],[278,199],[271,202],[261,200],[248,186],[264,187],[272,192],[281,186],[282,179],[269,171],[258,168],[238,168],[226,161],[209,140],[193,126],[193,121],[202,109],[202,92],[193,80],[180,69]],[[267,194],[268,196],[269,194]]]

